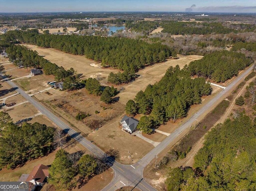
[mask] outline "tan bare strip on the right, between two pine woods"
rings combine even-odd
[[[124,90],[122,90],[118,96],[120,96],[120,102],[123,104],[126,104],[126,102],[130,99],[134,99],[136,94],[142,90],[144,91],[149,84],[154,84],[157,81],[160,81],[160,79],[164,76],[166,73],[166,70],[169,67],[175,67],[176,65],[179,65],[180,68],[183,68],[184,65],[188,65],[191,61],[201,59],[202,56],[198,55],[188,55],[188,56],[182,56],[178,55],[179,59],[167,59],[166,62],[157,63],[152,66],[148,66],[140,71],[138,71],[138,79],[136,79],[134,82],[129,83],[128,85],[121,85],[120,87],[124,87]]]

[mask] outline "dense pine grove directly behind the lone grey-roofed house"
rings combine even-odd
[[[204,78],[191,79],[188,67],[182,70],[177,65],[170,67],[164,77],[146,90],[139,91],[133,100],[126,104],[130,115],[147,114],[137,126],[151,133],[152,128],[172,119],[183,118],[192,104],[200,104],[201,96],[210,95],[212,89]]]

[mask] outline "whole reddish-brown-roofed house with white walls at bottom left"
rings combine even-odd
[[[26,181],[31,182],[35,186],[43,186],[49,177],[48,169],[49,167],[43,164],[35,166]]]

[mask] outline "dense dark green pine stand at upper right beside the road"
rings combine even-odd
[[[200,60],[192,61],[188,69],[192,76],[213,79],[216,82],[225,82],[238,75],[240,70],[252,63],[243,53],[233,51],[215,51],[205,55]]]

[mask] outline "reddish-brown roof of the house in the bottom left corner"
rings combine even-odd
[[[35,166],[26,181],[31,181],[32,179],[35,179],[37,182],[43,183],[45,177],[49,176],[48,169],[49,167],[43,164]]]

